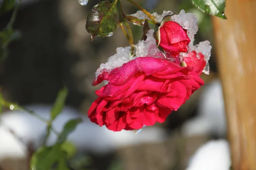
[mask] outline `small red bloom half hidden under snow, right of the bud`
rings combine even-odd
[[[204,60],[204,55],[202,53],[197,53],[192,51],[184,56],[184,62],[188,67],[193,67],[193,71],[197,74],[201,75],[204,67],[206,65],[206,61]]]

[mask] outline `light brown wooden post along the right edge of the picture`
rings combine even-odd
[[[256,1],[227,0],[213,17],[234,170],[256,170]],[[211,97],[211,96],[209,96]]]

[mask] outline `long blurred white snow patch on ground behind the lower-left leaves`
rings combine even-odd
[[[26,108],[49,119],[49,111],[51,110],[49,105],[30,105]],[[57,116],[52,125],[61,132],[67,121],[77,117],[81,117],[83,122],[70,134],[68,141],[75,144],[78,150],[105,154],[127,145],[160,142],[165,140],[167,136],[160,127],[145,127],[139,134],[126,130],[113,132],[105,126],[99,127],[90,122],[87,115],[79,114],[76,110],[67,107]],[[47,126],[29,113],[8,111],[2,114],[0,120],[0,159],[26,157],[26,145],[29,142],[32,142],[35,147],[42,144]],[[16,139],[9,129],[22,140]],[[47,144],[54,144],[56,139],[57,136],[51,133]]]

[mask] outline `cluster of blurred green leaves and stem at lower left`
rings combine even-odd
[[[49,137],[50,129],[52,129],[52,121],[61,113],[65,101],[67,98],[67,88],[62,88],[57,95],[55,103],[50,112],[51,120],[48,123],[47,127],[47,135],[45,136],[44,144],[47,142],[47,138]],[[58,134],[58,139],[53,146],[43,146],[39,148],[32,156],[30,167],[36,170],[49,170],[52,167],[56,166],[57,170],[69,170],[67,167],[67,159],[74,156],[76,153],[76,147],[66,142],[68,135],[72,133],[76,126],[81,123],[81,118],[71,119],[68,121],[62,130],[61,133]],[[53,129],[52,129],[53,130]]]

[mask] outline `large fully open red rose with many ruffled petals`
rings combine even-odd
[[[164,122],[189,96],[204,84],[190,67],[166,59],[138,57],[101,80],[108,84],[96,91],[99,96],[88,111],[90,120],[109,130],[140,129]]]

